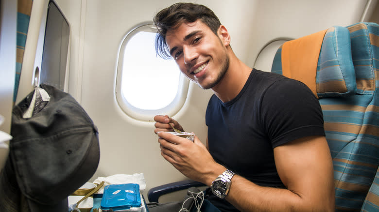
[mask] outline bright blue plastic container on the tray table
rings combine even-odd
[[[103,211],[127,211],[132,207],[140,207],[139,185],[127,183],[105,186],[100,206]]]

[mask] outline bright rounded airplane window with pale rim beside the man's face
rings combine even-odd
[[[156,55],[155,35],[152,24],[132,30],[119,55],[118,103],[129,116],[143,121],[156,114],[176,113],[184,104],[189,85],[175,61]]]

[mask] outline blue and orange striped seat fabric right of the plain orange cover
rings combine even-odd
[[[279,48],[272,72],[282,74],[281,63]],[[378,24],[327,30],[315,80],[333,158],[336,212],[379,211],[378,68]]]

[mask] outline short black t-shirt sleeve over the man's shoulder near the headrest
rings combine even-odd
[[[306,136],[325,136],[321,106],[305,84],[282,79],[261,98],[261,121],[273,148]]]

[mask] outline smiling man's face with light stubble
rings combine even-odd
[[[184,22],[166,34],[170,54],[180,71],[203,89],[217,85],[229,67],[221,34],[220,28],[216,35],[200,20]]]

